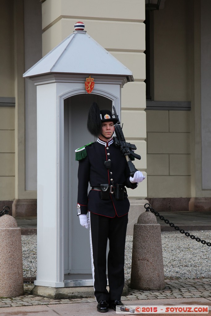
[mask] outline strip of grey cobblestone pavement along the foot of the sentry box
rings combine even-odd
[[[31,295],[32,283],[24,284],[24,295],[14,298],[0,297],[0,307],[32,306],[50,304],[68,304],[96,302],[90,298],[53,300],[46,297]],[[129,288],[128,296],[122,296],[122,301],[152,300],[166,298],[211,298],[211,279],[178,279],[165,280],[165,289],[159,291],[141,291]]]

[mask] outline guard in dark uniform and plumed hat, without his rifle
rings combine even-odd
[[[94,295],[97,310],[107,312],[123,305],[124,255],[128,222],[129,200],[126,188],[135,189],[144,179],[137,171],[133,178],[125,157],[113,141],[117,119],[109,110],[99,110],[93,103],[87,127],[97,141],[76,150],[78,166],[78,216],[80,224],[90,226],[90,248]],[[88,184],[91,190],[88,193]],[[88,213],[88,217],[87,217]],[[108,280],[106,289],[106,248],[109,239]]]

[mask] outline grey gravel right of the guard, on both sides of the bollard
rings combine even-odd
[[[195,237],[211,242],[211,231],[192,231]],[[166,279],[210,278],[211,247],[180,232],[162,232],[164,276]],[[130,281],[133,237],[127,236],[125,280]]]

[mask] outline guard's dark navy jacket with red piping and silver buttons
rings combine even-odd
[[[113,138],[108,142],[97,139],[95,143],[86,147],[87,156],[79,161],[78,166],[78,215],[88,211],[107,217],[123,216],[129,211],[127,192],[123,200],[116,200],[115,194],[109,194],[109,199],[101,199],[100,190],[90,190],[101,184],[122,184],[128,188],[136,188],[137,184],[129,181],[129,169],[125,157],[119,148],[116,148]],[[107,169],[104,161],[111,161],[111,168]],[[112,180],[113,179],[113,180]]]

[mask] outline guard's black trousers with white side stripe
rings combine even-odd
[[[114,218],[90,213],[90,247],[94,295],[101,300],[121,300],[124,287],[125,238],[128,215]],[[106,248],[109,239],[106,289]]]

